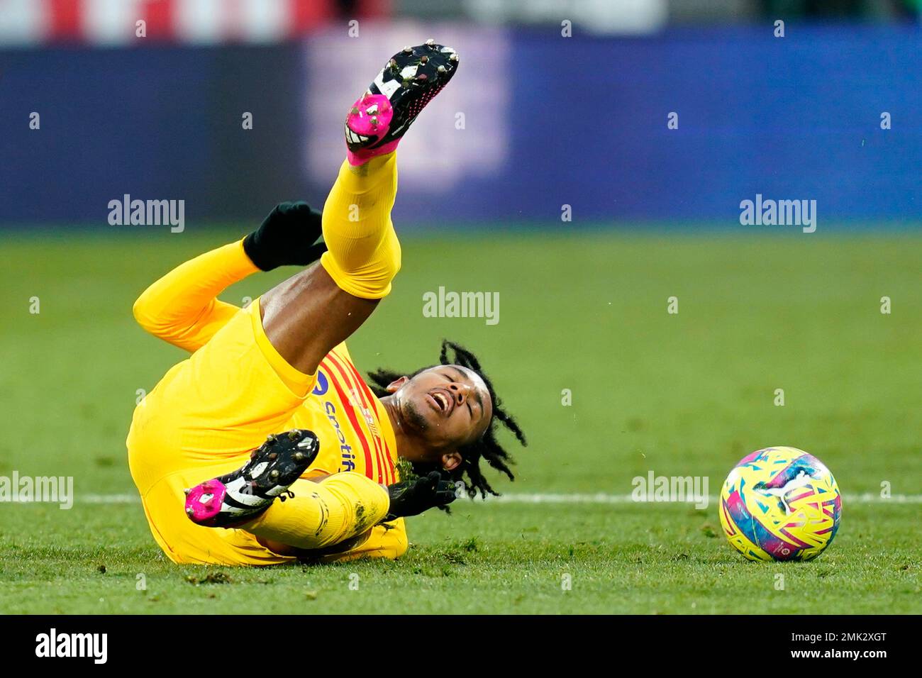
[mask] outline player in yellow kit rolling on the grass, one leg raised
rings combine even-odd
[[[457,62],[430,41],[384,66],[347,114],[347,160],[322,218],[282,203],[136,301],[142,327],[192,352],[136,408],[127,440],[150,529],[174,562],[396,558],[408,547],[403,518],[446,506],[455,482],[495,494],[481,459],[513,478],[494,421],[525,437],[469,351],[443,342],[440,364],[379,370],[369,387],[343,343],[400,268],[397,142]],[[317,256],[247,308],[216,298]],[[398,457],[420,477],[401,480]]]

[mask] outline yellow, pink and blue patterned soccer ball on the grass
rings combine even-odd
[[[727,540],[750,560],[811,560],[839,529],[842,497],[820,459],[766,447],[730,471],[718,511]]]

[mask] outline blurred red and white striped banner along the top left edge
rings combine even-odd
[[[387,5],[386,0],[360,1],[355,16],[345,17],[337,0],[0,0],[0,47],[272,43],[332,20],[343,21],[345,30],[349,19],[380,17]]]

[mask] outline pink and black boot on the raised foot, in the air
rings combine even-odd
[[[346,115],[349,164],[361,165],[396,149],[409,125],[448,84],[457,67],[455,50],[431,39],[395,54]]]

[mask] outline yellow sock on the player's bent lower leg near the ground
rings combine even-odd
[[[320,549],[360,535],[387,514],[387,490],[361,473],[334,473],[322,482],[295,481],[294,497],[277,499],[243,529],[299,549]]]

